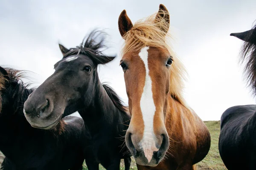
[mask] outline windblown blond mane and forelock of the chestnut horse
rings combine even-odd
[[[161,15],[168,15],[168,13],[161,11]],[[166,34],[169,30],[169,23],[166,22],[164,17],[156,18],[155,16],[156,14],[152,14],[145,20],[137,21],[131,30],[123,36],[125,44],[122,48],[121,55],[123,56],[125,53],[137,51],[145,46],[167,49],[174,61],[171,66],[170,74],[170,94],[174,99],[186,106],[186,102],[183,99],[186,69],[171,48],[170,40],[172,37],[169,33]]]

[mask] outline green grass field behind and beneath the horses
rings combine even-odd
[[[211,148],[208,155],[204,158],[204,160],[197,164],[197,170],[227,170],[218,152],[218,137],[220,134],[220,121],[205,121],[205,124],[207,125],[211,134],[211,138],[212,138]],[[0,152],[0,164],[2,163],[1,161],[3,161],[3,156],[1,154],[2,153]],[[120,169],[124,170],[123,160],[121,162]],[[85,163],[84,163],[83,170],[87,170]],[[105,168],[103,168],[100,165],[100,170],[105,170]],[[132,158],[130,170],[137,170],[137,167],[133,158]]]

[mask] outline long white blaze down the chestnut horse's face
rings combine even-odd
[[[145,157],[148,159],[148,162],[151,161],[153,152],[157,151],[156,143],[154,141],[154,114],[156,107],[154,105],[153,93],[152,93],[152,81],[149,76],[148,68],[148,49],[149,47],[144,47],[140,50],[139,56],[143,60],[146,69],[145,76],[145,86],[143,88],[143,94],[140,99],[140,109],[144,121],[144,133],[141,146],[143,148]]]

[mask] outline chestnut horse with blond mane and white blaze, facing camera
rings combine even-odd
[[[210,148],[206,125],[182,96],[185,69],[167,42],[169,20],[162,4],[134,25],[125,10],[119,16],[131,113],[125,142],[139,170],[193,170]]]

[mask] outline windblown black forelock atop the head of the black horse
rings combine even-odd
[[[70,51],[64,55],[63,59],[70,57],[71,55],[84,54],[96,63],[103,63],[102,60],[108,60],[108,57],[110,57],[105,56],[102,53],[102,51],[107,49],[107,46],[105,45],[106,35],[107,34],[103,31],[93,30],[87,37],[84,37],[79,46],[76,46],[76,48],[70,48]]]

